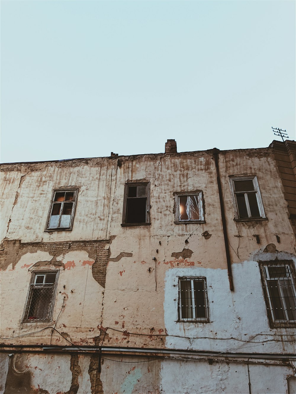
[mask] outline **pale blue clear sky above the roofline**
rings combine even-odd
[[[1,162],[295,138],[294,1],[1,2]]]

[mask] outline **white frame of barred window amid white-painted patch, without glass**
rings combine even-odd
[[[184,318],[182,316],[182,294],[181,294],[181,281],[190,281],[191,282],[191,303],[192,303],[192,318]],[[197,317],[195,312],[195,294],[194,294],[194,281],[199,281],[203,283],[204,288],[204,310],[205,310],[205,317]],[[178,281],[178,313],[179,313],[179,322],[201,322],[201,323],[208,323],[209,322],[209,309],[208,309],[208,292],[206,287],[206,278],[205,277],[180,277]]]

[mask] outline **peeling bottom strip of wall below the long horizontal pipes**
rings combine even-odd
[[[281,361],[1,353],[0,394],[295,393]]]

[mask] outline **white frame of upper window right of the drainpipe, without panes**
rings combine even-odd
[[[245,192],[244,191],[237,191],[236,192],[235,187],[234,187],[234,181],[236,181],[236,180],[252,180],[253,186],[254,186],[254,191],[245,191]],[[236,176],[230,177],[230,188],[231,188],[231,192],[232,192],[232,200],[233,200],[236,220],[241,220],[241,221],[260,220],[260,219],[266,218],[265,212],[264,212],[264,207],[263,207],[263,202],[262,202],[262,198],[261,198],[261,194],[260,194],[258,179],[257,179],[256,175],[244,176],[244,177],[236,177]],[[247,198],[247,193],[255,193],[260,216],[251,216],[251,209],[249,206],[249,200]],[[248,217],[240,217],[239,211],[238,211],[238,203],[236,200],[236,194],[244,194]]]

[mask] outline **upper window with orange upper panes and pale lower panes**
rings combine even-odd
[[[72,230],[78,190],[54,190],[47,230]]]

